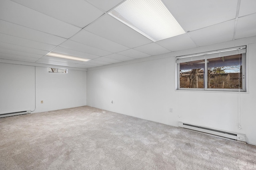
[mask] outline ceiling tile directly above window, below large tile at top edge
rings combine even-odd
[[[235,20],[189,32],[198,46],[233,40]]]

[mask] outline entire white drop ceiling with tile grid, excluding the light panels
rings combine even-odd
[[[2,0],[0,58],[92,68],[256,36],[254,0],[162,0],[188,31],[156,42],[108,14],[125,1]],[[51,51],[91,60],[46,56]]]

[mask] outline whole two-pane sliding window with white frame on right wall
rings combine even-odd
[[[246,91],[246,46],[176,57],[178,90]]]

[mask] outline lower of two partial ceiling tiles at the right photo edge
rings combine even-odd
[[[256,36],[256,14],[238,18],[236,26],[236,39]]]

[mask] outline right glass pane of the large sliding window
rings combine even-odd
[[[242,54],[207,60],[207,88],[242,89]]]

